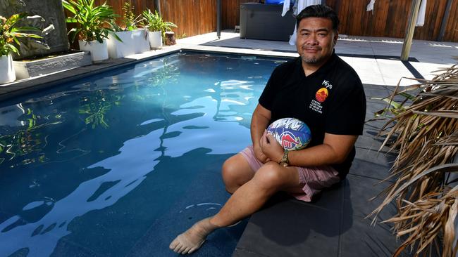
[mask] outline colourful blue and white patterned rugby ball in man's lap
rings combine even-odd
[[[267,127],[267,132],[288,151],[304,149],[311,140],[309,126],[295,118],[283,118],[273,121]]]

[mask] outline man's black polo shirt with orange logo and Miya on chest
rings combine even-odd
[[[293,117],[311,131],[310,146],[321,145],[324,133],[361,135],[366,115],[366,96],[358,74],[335,53],[316,72],[305,76],[301,58],[276,67],[259,104],[271,111],[271,121]],[[333,168],[345,178],[355,150]]]

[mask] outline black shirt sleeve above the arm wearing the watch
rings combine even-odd
[[[359,79],[333,92],[333,103],[326,116],[326,133],[361,135],[366,118],[366,95]]]

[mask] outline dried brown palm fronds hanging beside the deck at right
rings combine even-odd
[[[385,100],[391,103],[397,95],[417,92],[409,98],[409,106],[404,106],[405,100],[390,105],[396,107],[390,109],[394,116],[380,131],[386,136],[382,147],[391,141],[390,150],[399,154],[388,177],[395,178],[395,183],[380,193],[385,198],[369,216],[375,223],[378,213],[396,202],[397,215],[383,222],[394,223],[397,237],[407,239],[393,256],[408,246],[416,249],[416,256],[433,249],[440,252],[440,243],[442,256],[457,253],[452,246],[456,243],[458,186],[451,188],[445,178],[447,173],[458,172],[458,164],[451,163],[458,152],[458,65],[437,72],[442,73],[431,80],[416,79],[419,83],[412,86],[400,88],[398,84]]]

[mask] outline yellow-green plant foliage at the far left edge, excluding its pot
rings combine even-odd
[[[11,15],[6,19],[0,16],[0,56],[8,55],[10,53],[19,54],[16,45],[19,45],[19,38],[35,38],[42,39],[37,34],[25,33],[30,31],[40,32],[41,29],[37,27],[18,27],[18,21],[27,17],[27,13],[18,13]]]

